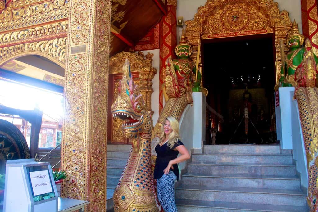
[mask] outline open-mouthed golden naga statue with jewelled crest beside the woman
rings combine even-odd
[[[158,211],[151,170],[152,119],[126,59],[112,114],[122,120],[122,131],[132,143],[126,167],[114,192],[116,212]]]

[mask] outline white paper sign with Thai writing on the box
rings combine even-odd
[[[49,172],[47,170],[30,172],[34,196],[52,192]]]

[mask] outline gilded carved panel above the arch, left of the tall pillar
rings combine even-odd
[[[38,54],[65,67],[68,0],[11,1],[0,12],[0,65]]]

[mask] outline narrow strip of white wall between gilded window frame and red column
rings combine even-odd
[[[159,118],[159,49],[154,50],[146,50],[142,51],[145,55],[149,52],[154,54],[154,57],[152,58],[152,67],[157,69],[157,73],[152,79],[152,89],[154,89],[154,92],[151,94],[151,110],[154,112],[154,115],[152,116],[153,125],[157,123],[157,120]],[[136,52],[137,53],[137,52]]]

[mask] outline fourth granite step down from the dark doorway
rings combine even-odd
[[[108,177],[108,176],[107,176]],[[236,188],[267,188],[295,190],[300,188],[300,179],[296,176],[265,176],[252,174],[192,174],[182,175],[182,185]]]

